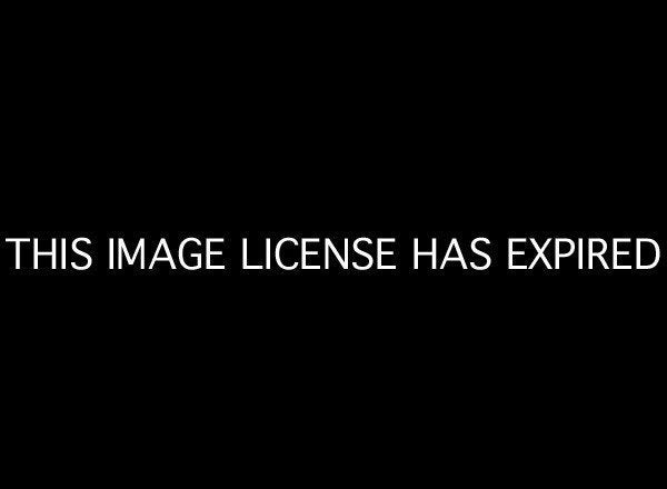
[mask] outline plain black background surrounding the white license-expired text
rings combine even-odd
[[[6,267],[13,459],[636,477],[660,432],[664,265],[511,273],[504,242],[664,246],[658,32],[581,12],[275,13],[33,12],[3,62],[2,237],[396,236],[401,270]],[[497,246],[489,272],[409,271],[412,237],[476,236]]]

